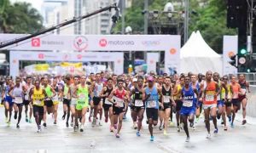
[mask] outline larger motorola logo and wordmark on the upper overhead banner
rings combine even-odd
[[[129,41],[129,40],[127,40],[127,41],[119,41],[119,40],[108,41],[107,39],[102,38],[99,41],[99,45],[102,48],[107,47],[107,46],[133,46],[134,44],[135,44],[134,41]]]

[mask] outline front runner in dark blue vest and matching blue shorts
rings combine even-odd
[[[193,75],[191,76],[193,77]],[[190,83],[190,77],[185,77],[185,84],[182,89],[182,99],[183,106],[181,108],[180,114],[183,118],[183,128],[187,135],[186,142],[189,142],[189,129],[188,129],[188,118],[190,122],[190,127],[194,127],[194,118],[195,118],[195,107],[196,107],[196,97],[198,97],[197,88],[193,88]]]

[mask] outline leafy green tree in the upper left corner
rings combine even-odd
[[[0,6],[0,31],[3,33],[33,33],[43,28],[43,17],[30,3],[9,3]]]

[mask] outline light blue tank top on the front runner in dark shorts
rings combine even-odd
[[[150,94],[150,97],[146,101],[146,107],[147,108],[154,108],[154,109],[159,109],[159,96],[157,92],[156,86],[150,90],[148,87],[145,89],[146,94]]]

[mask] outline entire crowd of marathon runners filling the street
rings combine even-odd
[[[57,118],[61,115],[66,127],[73,127],[74,132],[83,132],[85,121],[92,127],[102,126],[104,118],[116,138],[120,137],[122,122],[130,108],[137,137],[141,136],[144,121],[148,124],[150,141],[154,141],[153,127],[158,126],[166,135],[167,128],[175,126],[175,114],[177,132],[184,130],[189,142],[189,127],[195,130],[194,124],[200,116],[205,117],[207,139],[211,138],[210,121],[214,125],[213,133],[218,133],[218,119],[227,131],[234,127],[236,112],[240,109],[241,124],[246,124],[247,93],[250,90],[244,75],[220,77],[216,72],[207,71],[205,75],[189,72],[172,77],[167,74],[132,77],[102,72],[89,76],[6,77],[2,104],[5,122],[8,125],[15,122],[17,128],[20,128],[24,106],[26,122],[35,122],[38,133],[42,123],[44,127],[48,125],[47,114],[52,114],[54,124],[60,122]],[[60,104],[63,112],[58,112]],[[89,115],[85,116],[86,113]]]

